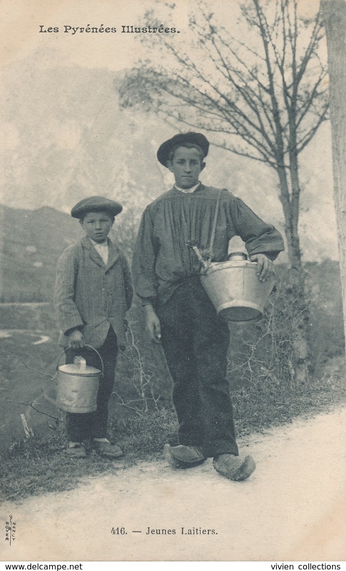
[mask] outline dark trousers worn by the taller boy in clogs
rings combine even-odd
[[[230,342],[226,321],[216,315],[199,279],[184,282],[156,311],[173,379],[179,443],[198,445],[208,457],[238,455],[226,379]]]

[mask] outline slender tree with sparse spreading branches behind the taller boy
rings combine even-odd
[[[235,37],[198,2],[190,17],[191,43],[160,37],[163,63],[140,62],[128,73],[120,101],[159,112],[178,130],[208,131],[217,146],[275,170],[291,265],[287,289],[303,305],[298,158],[327,119],[327,69],[319,53],[323,21],[320,13],[300,17],[297,0],[247,0],[240,13]],[[307,374],[306,324],[296,339],[301,379]]]

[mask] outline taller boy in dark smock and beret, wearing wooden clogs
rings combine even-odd
[[[166,444],[171,464],[192,467],[207,457],[231,480],[255,469],[251,456],[240,458],[226,379],[228,325],[216,315],[199,279],[199,263],[187,247],[211,243],[219,190],[199,182],[208,154],[207,138],[195,132],[175,135],[158,150],[158,160],[174,174],[175,184],[143,213],[132,260],[135,291],[146,312],[152,341],[162,341],[173,379],[179,421],[179,445]],[[230,239],[239,235],[258,278],[272,272],[272,260],[284,249],[280,233],[259,219],[231,192],[222,190],[214,239],[215,262],[227,259]]]

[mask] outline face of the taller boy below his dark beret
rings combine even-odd
[[[179,147],[173,159],[167,162],[167,167],[174,174],[176,186],[180,188],[191,188],[198,184],[199,174],[205,166],[206,163],[201,162],[196,148]]]

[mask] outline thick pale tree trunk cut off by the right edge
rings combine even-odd
[[[334,200],[346,337],[346,1],[321,0],[327,35]]]

